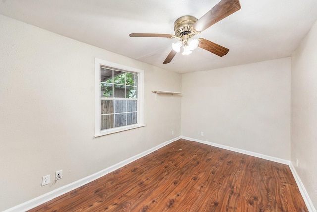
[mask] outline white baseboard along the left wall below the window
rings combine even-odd
[[[117,169],[119,169],[119,168],[121,168],[121,167],[123,167],[123,166],[125,166],[125,165],[127,165],[127,164],[129,164],[129,163],[141,158],[141,157],[144,157],[145,155],[150,154],[150,153],[162,148],[163,146],[166,146],[166,145],[168,145],[168,144],[170,144],[170,143],[172,143],[172,142],[174,142],[174,141],[176,141],[176,140],[178,140],[180,138],[181,137],[179,136],[179,137],[176,137],[176,138],[171,139],[169,141],[166,141],[164,143],[161,143],[158,146],[155,146],[155,147],[153,147],[153,148],[151,148],[149,150],[141,152],[140,154],[137,154],[137,155],[135,155],[133,157],[130,157],[130,158],[126,159],[126,160],[123,160],[123,161],[121,161],[121,162],[119,162],[117,164],[114,164],[114,165],[112,165],[112,166],[110,166],[110,167],[108,167],[108,168],[106,168],[104,170],[101,170],[101,171],[99,171],[97,173],[94,173],[94,174],[92,174],[90,176],[87,176],[85,178],[77,180],[77,181],[75,181],[73,183],[67,184],[67,185],[62,186],[62,187],[60,187],[58,189],[55,189],[55,190],[50,191],[48,193],[45,193],[45,194],[43,194],[43,195],[41,195],[39,197],[36,197],[36,198],[34,198],[32,200],[29,200],[27,202],[24,202],[24,203],[21,203],[21,204],[19,204],[17,206],[9,208],[9,209],[7,209],[7,210],[5,210],[3,212],[24,212],[24,211],[30,210],[30,209],[32,209],[32,208],[34,208],[36,206],[39,206],[39,205],[41,205],[41,204],[43,204],[43,203],[45,203],[47,201],[50,201],[50,200],[53,200],[56,197],[59,197],[60,195],[66,194],[67,192],[70,192],[70,191],[72,191],[72,190],[74,190],[76,188],[79,188],[80,186],[83,186],[83,185],[85,185],[87,183],[90,183],[90,182],[92,182],[92,181],[94,181],[94,180],[96,180],[96,179],[98,179],[98,178],[100,178],[102,176],[105,176],[106,174],[108,174],[108,173],[110,173],[112,171],[115,171],[115,170],[117,170]]]

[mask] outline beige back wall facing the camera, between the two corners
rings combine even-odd
[[[290,65],[283,58],[183,74],[182,136],[289,160]]]

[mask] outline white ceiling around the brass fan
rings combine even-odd
[[[183,15],[198,19],[220,0],[0,0],[0,14],[111,52],[180,73],[288,57],[317,19],[317,0],[240,0],[241,9],[197,35],[228,49],[223,57],[197,48],[163,61]]]

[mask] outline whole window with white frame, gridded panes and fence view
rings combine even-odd
[[[95,59],[95,137],[144,126],[143,70]]]

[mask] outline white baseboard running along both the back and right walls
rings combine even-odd
[[[293,177],[296,181],[296,184],[298,186],[298,189],[304,199],[304,202],[306,204],[306,207],[308,209],[309,212],[316,212],[315,208],[314,208],[314,205],[311,201],[311,199],[309,198],[308,194],[307,194],[307,191],[301,181],[301,179],[299,178],[296,170],[295,170],[295,167],[293,166],[293,164],[291,163],[291,161],[289,160],[284,160],[284,159],[280,159],[280,158],[276,158],[276,157],[271,157],[271,156],[267,156],[267,155],[264,155],[264,154],[259,154],[259,153],[255,153],[255,152],[251,152],[251,151],[246,151],[246,150],[242,150],[242,149],[238,149],[238,148],[233,148],[233,147],[230,147],[230,146],[225,146],[225,145],[221,145],[221,144],[217,144],[217,143],[212,143],[212,142],[208,142],[208,141],[202,141],[202,140],[198,140],[198,139],[193,139],[193,138],[189,138],[189,137],[186,137],[186,136],[181,136],[182,139],[186,139],[186,140],[190,140],[190,141],[196,141],[196,142],[199,142],[199,143],[204,143],[204,144],[207,144],[207,145],[210,145],[210,146],[215,146],[215,147],[218,147],[218,148],[222,148],[222,149],[226,149],[226,150],[230,150],[230,151],[234,151],[234,152],[238,152],[238,153],[242,153],[242,154],[246,154],[246,155],[250,155],[250,156],[254,156],[254,157],[258,157],[258,158],[262,158],[262,159],[265,159],[265,160],[270,160],[270,161],[273,161],[273,162],[277,162],[277,163],[282,163],[282,164],[285,164],[285,165],[288,165],[289,168],[291,169],[291,172],[293,174]]]

